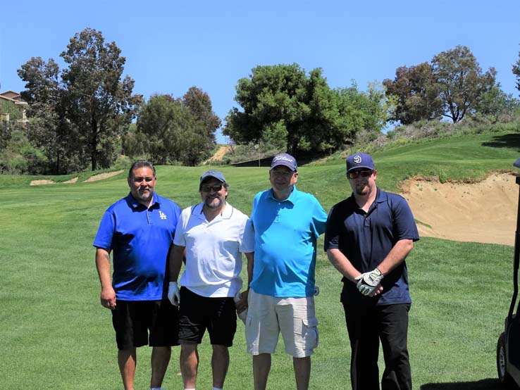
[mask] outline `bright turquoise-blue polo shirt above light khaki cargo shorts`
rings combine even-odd
[[[254,268],[252,289],[278,297],[314,295],[316,239],[325,231],[327,214],[311,194],[292,190],[278,201],[273,189],[253,201]]]

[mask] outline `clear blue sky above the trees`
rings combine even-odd
[[[180,97],[196,86],[221,118],[237,106],[237,81],[256,65],[322,68],[330,87],[355,80],[366,89],[457,44],[469,46],[483,70],[495,67],[505,92],[519,94],[511,72],[518,0],[3,1],[1,91],[24,89],[16,70],[33,56],[63,65],[59,54],[85,27],[116,42],[135,93]]]

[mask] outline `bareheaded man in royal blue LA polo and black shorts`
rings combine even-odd
[[[154,165],[135,162],[128,172],[130,194],[106,210],[94,239],[101,305],[112,310],[125,390],[134,389],[137,347],[153,347],[150,388],[160,389],[171,346],[178,345],[178,310],[167,299],[165,272],[181,210],[155,194],[155,184]]]

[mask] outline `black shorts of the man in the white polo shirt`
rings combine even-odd
[[[179,341],[202,342],[208,329],[211,344],[232,346],[237,332],[237,313],[233,298],[208,298],[180,288]]]

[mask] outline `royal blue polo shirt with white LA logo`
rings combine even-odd
[[[166,261],[180,212],[175,202],[155,193],[150,208],[128,194],[106,210],[94,246],[112,251],[117,299],[166,298]]]

